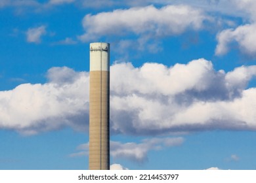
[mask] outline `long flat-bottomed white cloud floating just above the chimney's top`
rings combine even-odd
[[[165,37],[200,29],[206,16],[198,9],[184,5],[167,5],[117,9],[112,12],[87,14],[83,18],[85,34],[82,41],[91,41],[104,35],[139,35]]]

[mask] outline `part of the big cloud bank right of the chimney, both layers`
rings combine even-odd
[[[113,65],[111,120],[119,133],[158,134],[207,129],[255,130],[256,66],[224,73],[210,61],[166,67]]]

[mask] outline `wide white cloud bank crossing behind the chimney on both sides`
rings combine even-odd
[[[256,129],[256,88],[247,88],[255,65],[225,73],[215,71],[211,61],[196,59],[171,67],[116,63],[110,70],[112,134]],[[87,129],[89,73],[53,67],[47,77],[45,84],[0,92],[0,128],[25,134],[63,126]]]

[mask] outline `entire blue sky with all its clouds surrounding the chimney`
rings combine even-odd
[[[0,2],[0,169],[88,169],[89,43],[110,42],[112,169],[256,169],[253,0]]]

